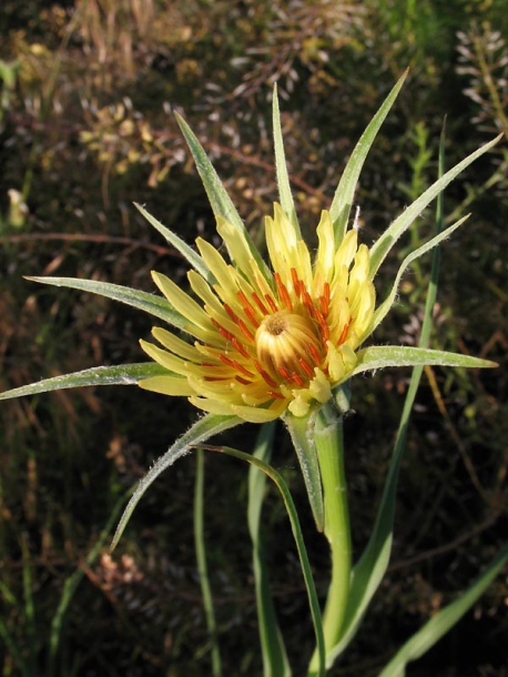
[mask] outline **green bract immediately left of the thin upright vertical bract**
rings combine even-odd
[[[248,235],[247,230],[243,224],[243,221],[240,218],[235,205],[233,204],[230,195],[227,194],[224,185],[222,184],[222,181],[219,178],[213,164],[210,162],[210,159],[206,155],[204,148],[201,145],[197,140],[197,137],[191,130],[185,120],[177,113],[175,113],[175,118],[176,122],[180,125],[180,129],[182,130],[183,135],[185,137],[185,141],[187,142],[192,156],[194,158],[197,172],[203,182],[206,195],[209,196],[209,201],[212,206],[212,211],[215,214],[215,218],[222,216],[237,229],[237,231],[241,233],[241,235],[247,243],[253,259],[256,261],[257,265],[260,266],[260,270],[263,271],[267,280],[272,280],[272,275],[270,274],[270,271],[266,267],[266,263],[263,261],[255,244],[251,240],[251,236]]]

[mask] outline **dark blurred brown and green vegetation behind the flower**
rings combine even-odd
[[[435,180],[445,115],[448,166],[495,133],[508,133],[508,17],[494,0],[2,0],[0,27],[1,390],[143,360],[138,340],[149,335],[150,317],[22,277],[93,277],[153,291],[156,269],[184,283],[185,265],[133,201],[187,242],[201,233],[219,244],[173,110],[197,133],[257,240],[276,199],[275,81],[309,239],[354,143],[407,65],[410,77],[357,193],[364,242]],[[400,477],[390,569],[332,675],[376,675],[506,540],[506,168],[501,144],[446,193],[450,220],[469,210],[473,216],[444,246],[433,336],[434,347],[500,367],[426,372]],[[402,242],[378,280],[379,294],[404,249],[430,232],[433,214],[426,211]],[[406,275],[377,343],[417,341],[428,271],[425,260]],[[374,519],[407,380],[399,370],[354,384],[346,462],[356,553]],[[155,483],[112,556],[104,545],[87,560],[119,501],[195,416],[183,401],[135,387],[2,403],[2,675],[211,673],[192,535],[192,456]],[[224,439],[248,451],[255,434],[245,425]],[[327,552],[283,430],[274,463],[301,506],[324,595]],[[246,467],[210,455],[205,491],[225,675],[260,675]],[[264,519],[281,623],[295,675],[303,675],[313,634],[275,492]],[[61,604],[67,613],[54,620]],[[409,677],[508,675],[507,604],[505,573],[410,666]]]

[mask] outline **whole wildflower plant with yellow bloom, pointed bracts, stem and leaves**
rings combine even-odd
[[[186,293],[159,272],[153,272],[153,280],[162,296],[90,280],[31,280],[92,292],[150,313],[156,320],[152,331],[154,342],[142,341],[141,345],[151,361],[94,367],[0,395],[4,400],[85,385],[138,384],[141,388],[162,395],[185,396],[205,412],[140,482],[120,521],[113,546],[118,544],[135,505],[149,486],[179,457],[193,448],[204,447],[247,461],[252,465],[248,523],[265,676],[292,674],[271,603],[266,564],[260,548],[265,476],[275,482],[283,496],[307,586],[316,635],[316,650],[307,674],[322,676],[357,631],[389,560],[404,434],[423,366],[496,366],[486,360],[428,347],[436,291],[433,284],[428,290],[426,321],[418,346],[370,345],[370,335],[392,309],[406,269],[437,247],[467,216],[438,231],[412,251],[402,262],[388,293],[379,301],[376,299],[375,277],[386,256],[450,181],[500,139],[498,137],[485,144],[446,173],[441,171],[436,182],[407,206],[370,247],[360,243],[356,220],[352,222],[355,189],[367,152],[405,77],[406,73],[367,127],[344,170],[329,209],[322,212],[316,226],[317,251],[314,256],[302,238],[289,189],[276,89],[273,127],[280,201],[264,223],[267,260],[254,245],[196,137],[177,117],[210,199],[217,233],[227,256],[201,238],[196,240],[196,249],[190,247],[144,208],[136,205],[189,262],[191,270],[187,277],[192,293]],[[372,536],[364,553],[354,563],[343,439],[343,417],[349,408],[349,384],[354,376],[363,372],[395,366],[413,366],[412,383]],[[295,505],[284,479],[268,463],[277,418],[284,421],[294,443],[316,527],[324,532],[329,542],[331,585],[323,616]],[[263,424],[253,454],[205,445],[212,436],[244,422]],[[201,514],[202,505],[197,502],[197,517]],[[200,529],[202,524],[197,519],[197,533]],[[206,564],[200,544],[202,539],[197,538],[207,619],[213,633]],[[464,615],[507,558],[508,550],[505,548],[463,597],[439,612],[402,647],[383,675],[404,675],[407,663],[418,658]],[[221,674],[216,644],[213,649],[213,674]]]

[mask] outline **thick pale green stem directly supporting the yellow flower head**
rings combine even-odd
[[[319,411],[315,442],[323,482],[325,503],[325,536],[332,555],[332,580],[323,616],[326,654],[339,641],[349,596],[352,545],[346,477],[344,472],[343,417],[332,404]],[[315,674],[314,654],[309,676]]]

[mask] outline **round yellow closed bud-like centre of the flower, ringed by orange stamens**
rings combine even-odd
[[[267,315],[255,336],[258,361],[270,376],[281,383],[303,387],[314,377],[324,346],[315,323],[289,311]]]

